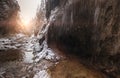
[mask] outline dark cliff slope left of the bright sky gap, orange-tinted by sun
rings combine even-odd
[[[0,0],[0,34],[18,31],[20,8],[16,0]]]

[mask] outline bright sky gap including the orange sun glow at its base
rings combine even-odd
[[[36,15],[37,8],[41,0],[17,0],[20,5],[20,17],[22,28],[25,32],[32,32],[33,30],[32,19]]]

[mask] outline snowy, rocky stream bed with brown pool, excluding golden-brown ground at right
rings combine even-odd
[[[47,68],[59,59],[44,41],[16,34],[0,38],[0,78],[50,78]]]

